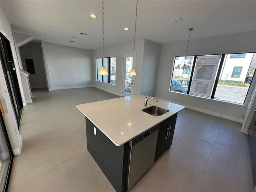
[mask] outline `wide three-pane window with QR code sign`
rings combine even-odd
[[[190,62],[176,57],[170,91],[243,104],[254,76],[255,56],[256,53],[189,56]]]

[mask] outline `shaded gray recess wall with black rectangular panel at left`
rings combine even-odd
[[[27,72],[28,70],[26,67],[25,58],[33,59],[36,74],[29,75],[30,87],[31,88],[46,87],[41,44],[29,42],[24,46],[21,46],[20,57],[22,60],[23,70]]]

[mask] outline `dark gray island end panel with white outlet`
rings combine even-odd
[[[117,192],[125,192],[128,143],[116,146],[87,117],[86,134],[87,149],[102,172]]]

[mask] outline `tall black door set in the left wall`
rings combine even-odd
[[[0,35],[1,63],[4,72],[4,78],[6,80],[8,92],[10,94],[12,107],[16,115],[17,126],[19,127],[23,104],[18,84],[18,78],[16,75],[10,42],[2,33]]]

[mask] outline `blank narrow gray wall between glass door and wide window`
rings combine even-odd
[[[161,45],[145,39],[140,94],[155,96]]]

